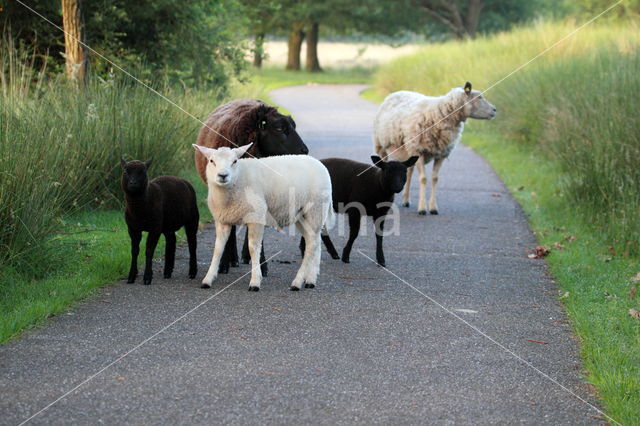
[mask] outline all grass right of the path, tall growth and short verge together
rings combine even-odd
[[[367,99],[396,90],[485,89],[575,23],[448,42],[384,65]],[[464,141],[495,168],[529,215],[581,342],[586,377],[608,414],[640,423],[640,32],[635,22],[592,25],[486,93],[492,122],[470,121]],[[575,240],[574,240],[575,238]]]

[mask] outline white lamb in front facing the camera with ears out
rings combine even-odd
[[[233,225],[247,225],[251,281],[249,291],[258,291],[262,281],[260,248],[265,226],[296,225],[311,242],[291,290],[315,287],[320,271],[320,232],[333,226],[331,178],[326,167],[307,155],[266,158],[241,157],[251,144],[239,148],[211,149],[193,145],[207,158],[207,203],[216,224],[213,258],[203,288],[218,276],[222,252]]]

